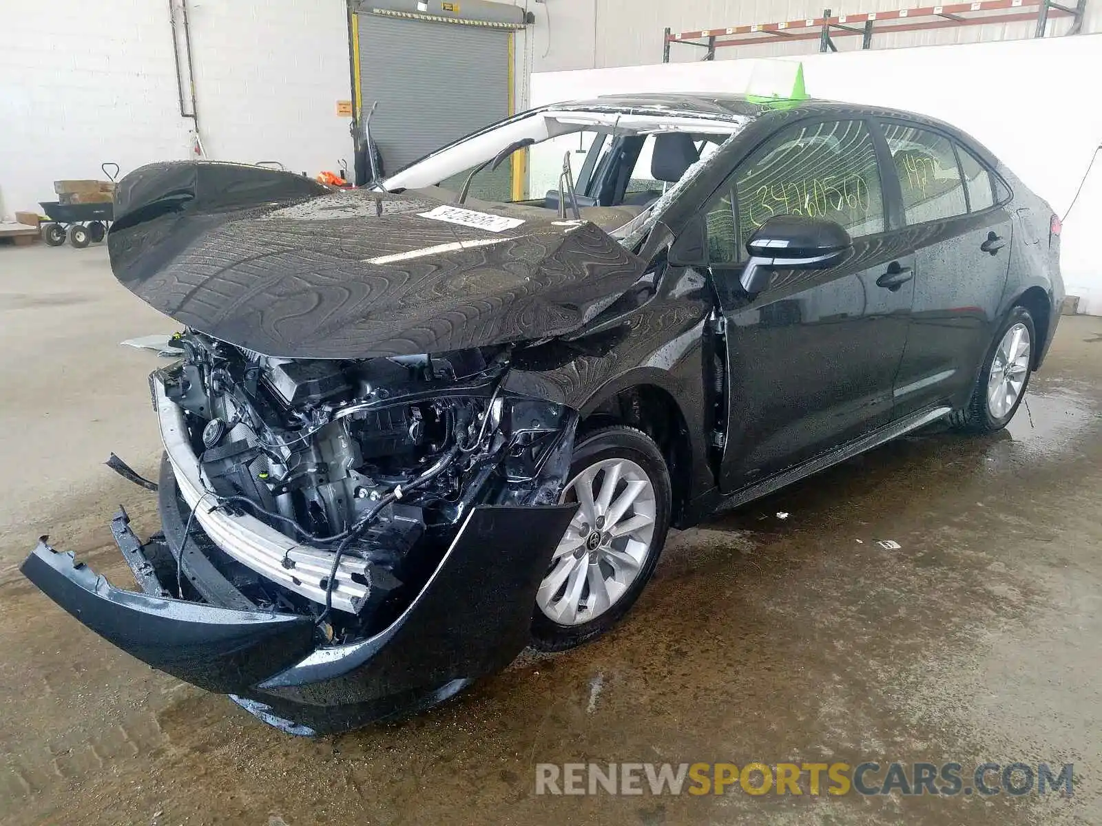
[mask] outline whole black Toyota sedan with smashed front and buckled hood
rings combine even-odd
[[[1005,426],[1063,296],[1059,221],[986,149],[813,100],[559,104],[358,191],[152,164],[115,214],[119,282],[183,326],[162,530],[112,522],[140,590],[45,540],[22,569],[294,733],[595,638],[671,526]]]

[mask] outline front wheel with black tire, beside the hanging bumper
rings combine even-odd
[[[536,595],[532,644],[563,651],[628,612],[655,573],[670,525],[670,474],[634,427],[603,427],[574,448],[561,501],[577,513]]]

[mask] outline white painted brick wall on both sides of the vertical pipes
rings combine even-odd
[[[207,156],[316,174],[352,162],[343,0],[192,0]],[[0,216],[56,178],[186,157],[163,0],[0,0]]]

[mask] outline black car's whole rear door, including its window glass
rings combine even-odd
[[[883,120],[916,252],[915,301],[896,381],[896,417],[963,404],[991,344],[1006,284],[1012,221],[995,178],[949,134]]]

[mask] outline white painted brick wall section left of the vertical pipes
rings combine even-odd
[[[182,157],[168,3],[0,2],[0,214],[55,178]]]

